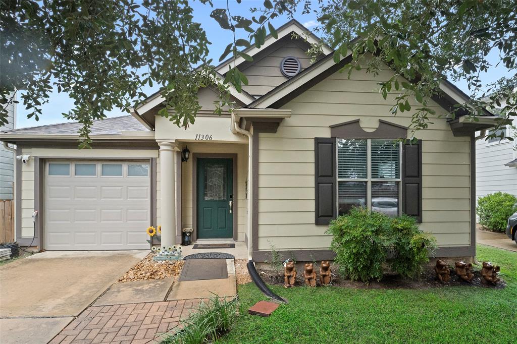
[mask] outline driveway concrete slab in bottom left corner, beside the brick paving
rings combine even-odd
[[[0,342],[45,344],[72,320],[73,318],[0,319]]]

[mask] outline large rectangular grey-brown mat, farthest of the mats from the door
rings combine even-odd
[[[179,281],[228,278],[226,259],[189,259],[185,261]]]

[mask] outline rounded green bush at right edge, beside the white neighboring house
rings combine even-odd
[[[483,227],[505,231],[508,217],[517,211],[517,197],[504,192],[479,197],[476,211]]]

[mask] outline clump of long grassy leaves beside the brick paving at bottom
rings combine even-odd
[[[221,301],[215,295],[208,303],[202,303],[199,309],[187,320],[181,322],[183,329],[176,327],[173,334],[164,335],[162,344],[202,344],[213,342],[230,331],[237,318],[235,301]]]

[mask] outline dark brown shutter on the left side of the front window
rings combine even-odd
[[[314,138],[315,224],[328,225],[336,218],[336,138]]]

